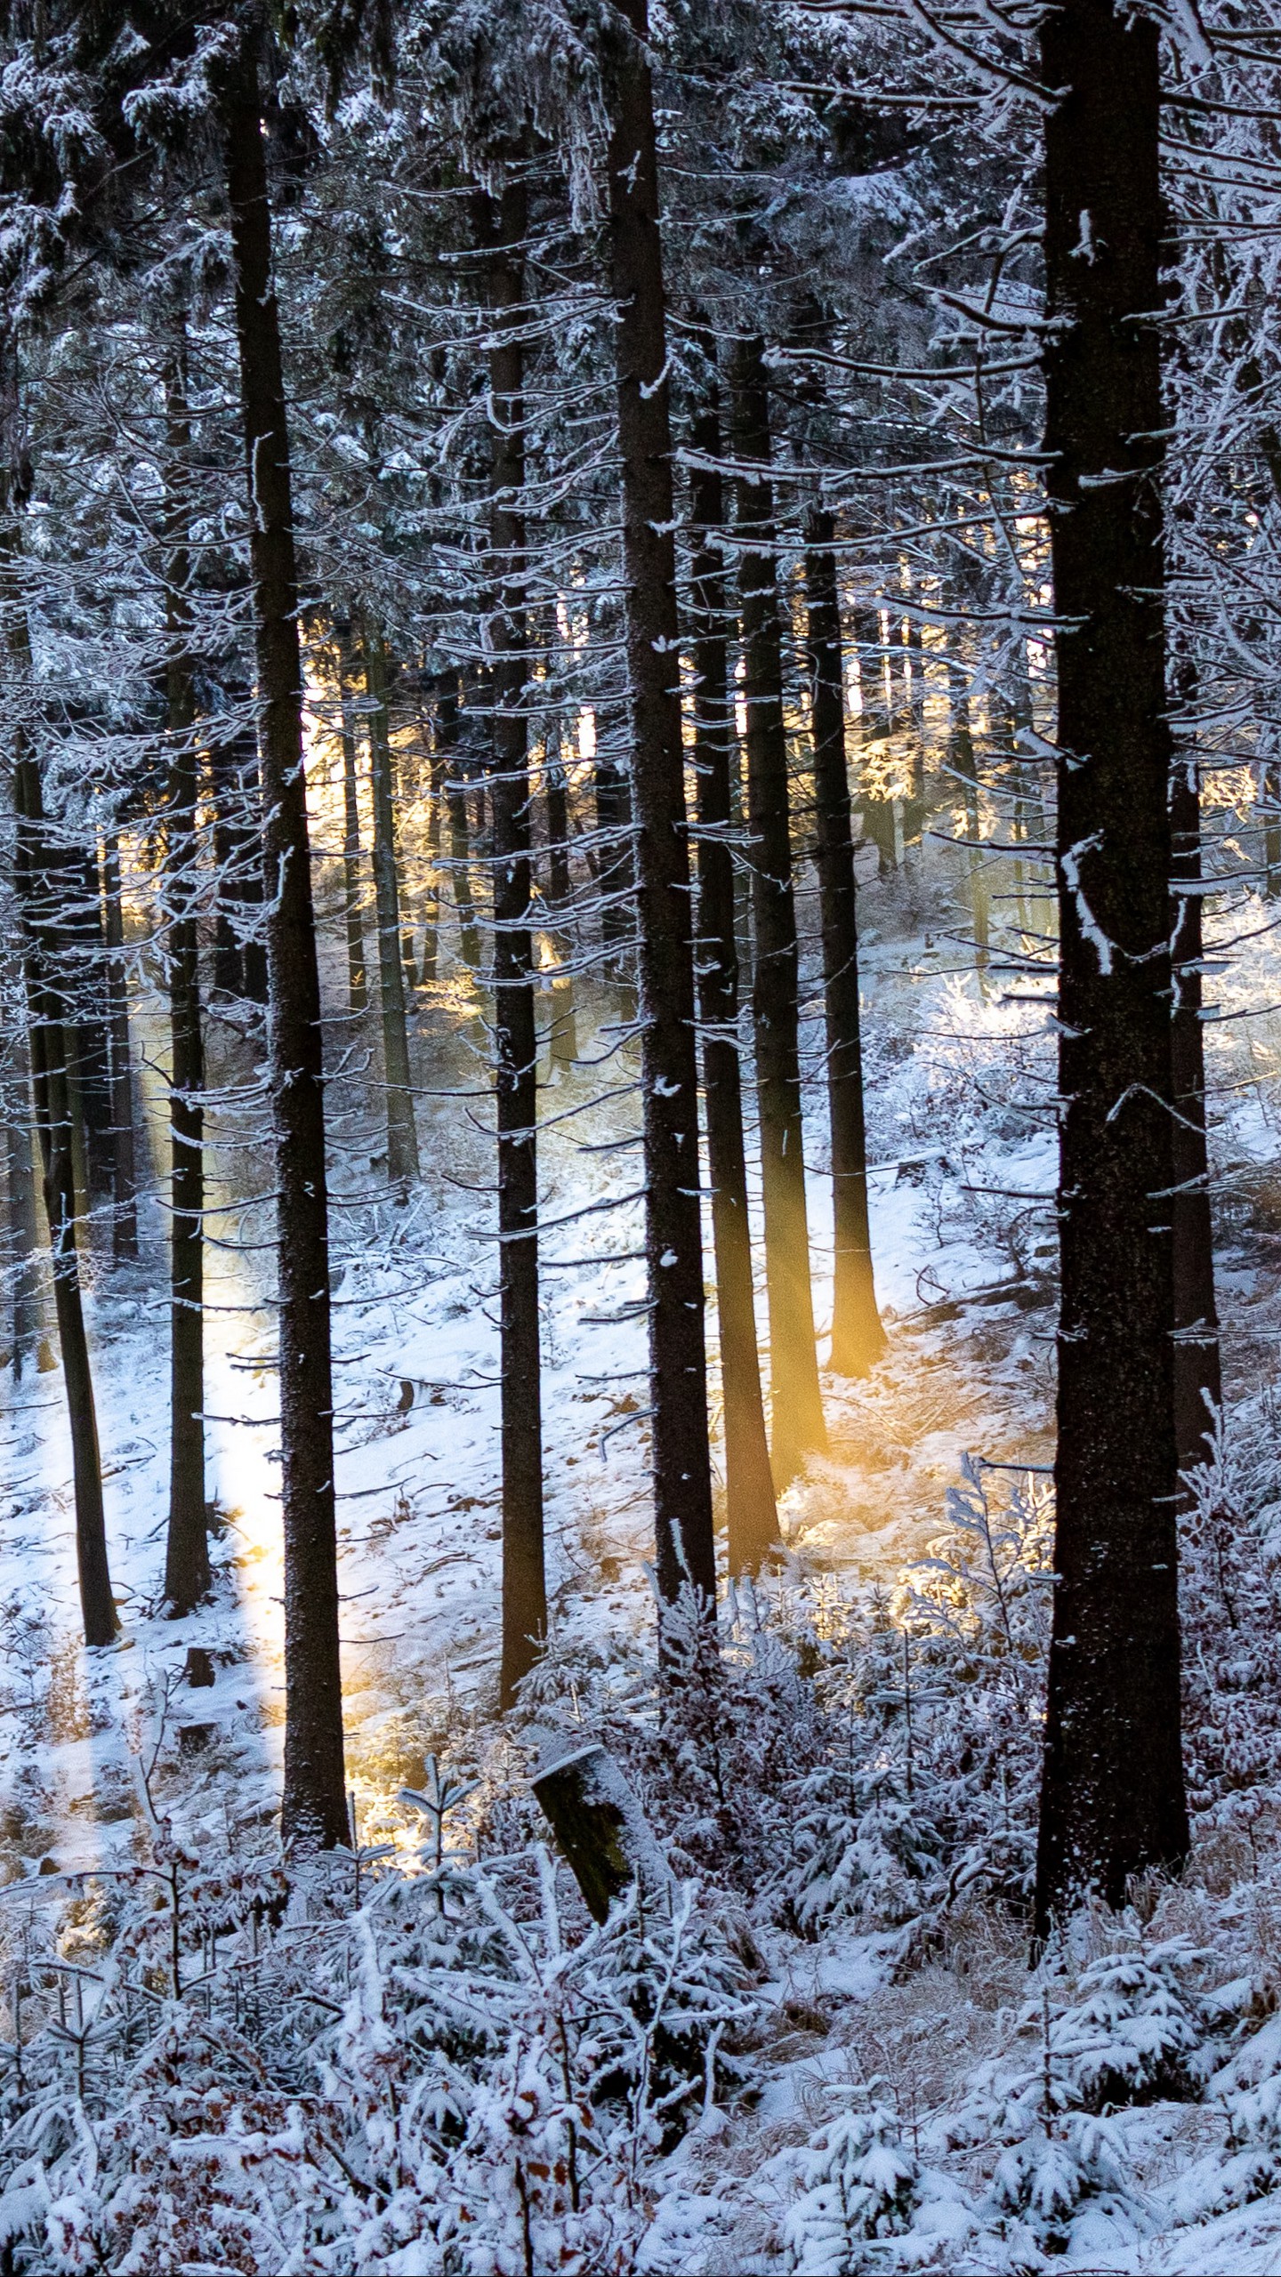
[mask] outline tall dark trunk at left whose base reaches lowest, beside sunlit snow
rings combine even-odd
[[[258,59],[246,43],[226,98],[235,323],[251,503],[253,628],[262,706],[269,1088],[280,1257],[280,1460],[285,1516],[287,1842],[349,1840],[337,1646],[333,1366],[324,1066],[303,783],[303,674],[280,314]]]

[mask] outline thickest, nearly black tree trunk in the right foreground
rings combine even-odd
[[[1188,1851],[1178,1724],[1158,27],[1042,27],[1058,633],[1058,1532],[1037,1929]],[[1083,257],[1087,232],[1090,257]]]

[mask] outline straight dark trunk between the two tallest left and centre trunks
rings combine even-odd
[[[476,198],[488,248],[490,546],[499,581],[492,619],[495,815],[495,1091],[499,1125],[499,1312],[504,1619],[501,1703],[547,1637],[542,1564],[542,1389],[538,1353],[538,1027],[533,1016],[533,893],[524,601],[524,232],[527,191],[508,182]]]

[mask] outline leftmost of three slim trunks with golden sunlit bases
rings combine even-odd
[[[716,1243],[716,1321],[725,1398],[725,1523],[729,1571],[757,1573],[782,1548],[770,1478],[770,1448],[757,1355],[752,1293],[752,1223],[743,1152],[739,1075],[739,945],[734,940],[734,806],[729,770],[739,758],[729,685],[725,560],[716,544],[725,496],[716,403],[697,412],[691,442],[702,467],[691,471],[691,615],[693,615],[693,763],[697,772],[697,1009],[702,1016],[702,1088],[707,1166]]]

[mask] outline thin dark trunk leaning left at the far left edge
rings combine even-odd
[[[27,674],[30,651],[25,626],[11,631],[9,640],[18,669]],[[14,806],[18,815],[14,879],[25,936],[27,1009],[32,1022],[32,1091],[50,1230],[57,1341],[62,1348],[66,1419],[71,1425],[80,1612],[84,1621],[84,1644],[112,1644],[121,1624],[116,1617],[112,1571],[107,1564],[98,1412],[93,1405],[93,1373],[89,1366],[89,1339],[84,1334],[84,1305],[80,1298],[75,1173],[71,1166],[71,1095],[66,1084],[68,1016],[57,979],[66,963],[66,947],[59,940],[62,879],[57,856],[50,852],[46,836],[39,761],[21,729],[14,749]]]

